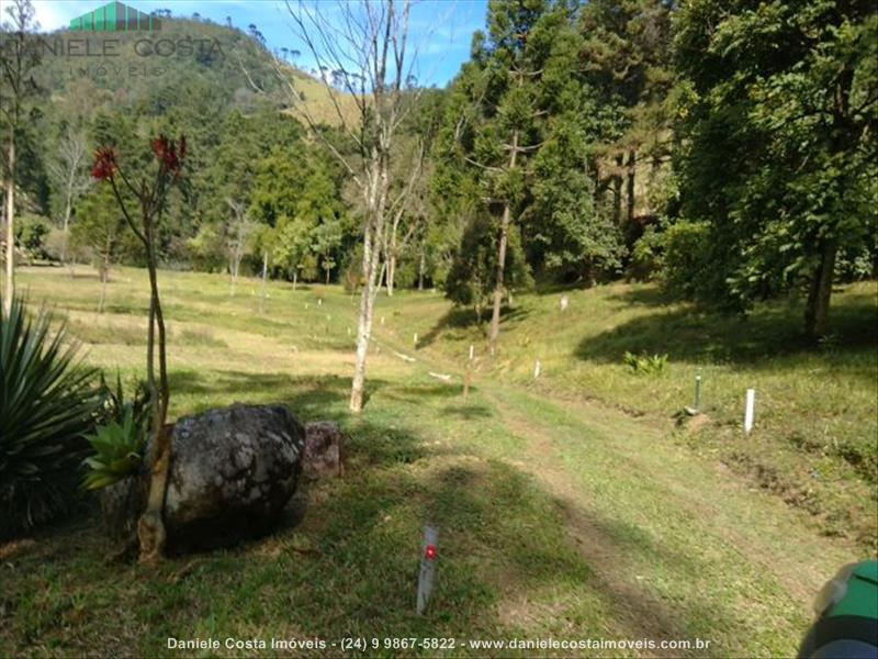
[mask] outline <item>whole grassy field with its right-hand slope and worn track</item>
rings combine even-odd
[[[103,316],[85,268],[74,279],[34,268],[20,282],[67,316],[90,364],[142,370],[143,271],[115,272]],[[271,283],[259,314],[255,281],[234,298],[218,276],[162,272],[160,286],[171,416],[284,402],[342,425],[346,474],[303,487],[277,534],[155,570],[108,562],[94,516],[0,546],[0,656],[182,656],[168,637],[393,636],[700,638],[707,651],[581,654],[790,656],[817,590],[871,551],[875,284],[836,298],[838,340],[819,351],[789,340],[798,311],[787,306],[744,323],[664,304],[644,286],[570,291],[563,314],[560,293],[522,297],[493,364],[439,294],[382,298],[356,418],[356,300],[339,288]],[[470,344],[477,370],[464,400]],[[642,349],[668,354],[660,375],[622,365]],[[677,426],[698,370],[708,416]],[[744,438],[746,387],[757,416]],[[818,477],[797,483],[806,469]],[[419,617],[427,521],[440,529],[439,573]],[[446,656],[510,654],[533,652],[458,644]]]

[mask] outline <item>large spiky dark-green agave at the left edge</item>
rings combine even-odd
[[[0,311],[0,537],[49,520],[70,502],[99,395],[64,326]]]

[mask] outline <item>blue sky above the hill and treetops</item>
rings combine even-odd
[[[43,31],[66,27],[70,20],[106,4],[109,0],[33,0],[36,19]],[[299,65],[312,68],[305,47],[297,44],[281,0],[124,0],[144,12],[170,9],[172,15],[191,16],[198,12],[216,23],[226,16],[246,30],[256,24],[269,47],[288,47],[302,52]],[[329,0],[317,0],[330,8]],[[0,5],[3,0],[0,0]],[[420,0],[413,8],[410,27],[414,43],[419,44],[418,79],[425,85],[442,87],[458,72],[470,53],[472,33],[484,26],[487,0]]]

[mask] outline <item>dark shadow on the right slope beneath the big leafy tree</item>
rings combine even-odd
[[[631,294],[649,295],[649,290]],[[836,304],[831,313],[833,350],[856,353],[878,343],[874,299],[858,295]],[[667,354],[671,361],[757,365],[772,357],[815,350],[818,347],[802,334],[801,309],[773,303],[759,305],[746,317],[657,305],[652,313],[583,339],[575,355],[579,359],[621,362],[626,351],[645,351]]]

